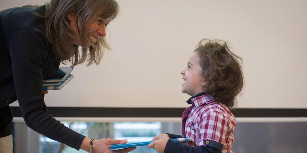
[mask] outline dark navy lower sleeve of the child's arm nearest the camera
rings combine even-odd
[[[215,147],[210,146],[187,146],[181,142],[175,142],[172,139],[167,141],[164,153],[221,153]]]

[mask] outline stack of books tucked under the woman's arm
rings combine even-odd
[[[73,67],[60,67],[55,73],[43,80],[44,90],[60,90],[74,77]]]

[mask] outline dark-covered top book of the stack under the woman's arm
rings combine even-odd
[[[55,73],[49,76],[47,79],[43,80],[46,82],[63,82],[68,74],[72,72],[73,67],[60,67]]]

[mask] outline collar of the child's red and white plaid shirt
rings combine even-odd
[[[216,100],[212,99],[212,96],[210,94],[207,94],[206,92],[201,92],[195,96],[192,96],[189,100],[186,102],[188,104],[192,104],[193,106],[200,106],[202,104],[208,104],[215,102]]]

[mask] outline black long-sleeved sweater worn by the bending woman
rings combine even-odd
[[[60,65],[45,34],[45,19],[32,13],[44,9],[17,7],[0,12],[0,137],[11,134],[8,105],[18,99],[31,129],[79,150],[85,136],[56,121],[44,102],[43,79]]]

